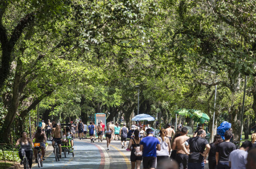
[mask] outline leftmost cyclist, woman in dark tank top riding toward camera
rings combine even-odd
[[[19,149],[19,156],[21,159],[20,165],[23,164],[23,156],[22,156],[22,149],[25,149],[26,152],[26,157],[28,158],[28,165],[29,168],[31,169],[32,167],[32,159],[33,159],[33,150],[30,147],[30,144],[32,145],[32,147],[34,148],[34,143],[32,140],[30,140],[30,138],[27,138],[27,133],[22,131],[20,133],[20,138],[17,140],[16,144],[15,144],[15,148],[17,148],[17,146],[20,144],[20,149]]]

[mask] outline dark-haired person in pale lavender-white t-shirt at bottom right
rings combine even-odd
[[[248,140],[242,143],[240,149],[232,151],[229,155],[229,166],[231,169],[246,169],[248,149],[252,147],[252,143]]]

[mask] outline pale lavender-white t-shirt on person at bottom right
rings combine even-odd
[[[240,149],[232,151],[229,155],[231,169],[246,169],[248,152]]]

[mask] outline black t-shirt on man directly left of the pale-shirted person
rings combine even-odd
[[[234,143],[222,142],[218,145],[216,152],[219,152],[219,162],[228,163],[230,153],[236,149]]]

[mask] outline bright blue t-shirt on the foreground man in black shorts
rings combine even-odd
[[[159,140],[152,136],[147,136],[141,140],[143,145],[143,157],[156,157],[156,146],[160,144]]]

